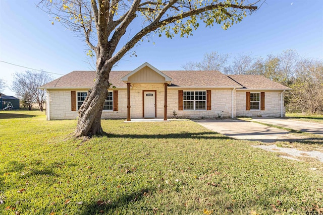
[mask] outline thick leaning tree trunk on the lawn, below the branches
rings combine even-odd
[[[107,97],[107,89],[110,87],[109,74],[111,68],[112,66],[97,68],[94,84],[88,91],[86,99],[78,111],[79,119],[77,128],[74,131],[76,137],[103,134],[101,115],[104,101]]]

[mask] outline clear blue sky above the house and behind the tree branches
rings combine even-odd
[[[82,38],[51,18],[32,0],[0,1],[0,60],[52,73],[93,70]],[[193,36],[144,41],[125,56],[114,70],[133,70],[149,62],[160,70],[181,69],[187,61],[199,61],[211,51],[231,56],[265,57],[295,49],[301,56],[323,59],[323,4],[321,0],[267,0],[261,8],[228,30],[203,25]],[[135,28],[131,32],[136,31]],[[127,33],[126,33],[127,34]],[[15,72],[26,68],[0,62],[0,78],[10,87]],[[59,78],[59,75],[53,75]],[[14,95],[10,88],[4,94]]]

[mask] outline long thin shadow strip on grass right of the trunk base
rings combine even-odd
[[[183,139],[232,139],[228,136],[223,136],[216,132],[181,132],[167,134],[113,134],[104,133],[104,136],[113,138],[136,138],[136,139],[168,139],[168,138],[183,138]]]

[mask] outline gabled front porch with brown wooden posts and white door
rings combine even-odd
[[[172,79],[148,63],[121,79],[127,84],[127,121],[164,117],[167,121],[167,90]]]

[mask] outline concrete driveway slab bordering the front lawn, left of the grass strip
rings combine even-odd
[[[292,135],[286,130],[238,119],[200,119],[194,121],[210,130],[236,139],[275,142],[295,141],[304,138]]]

